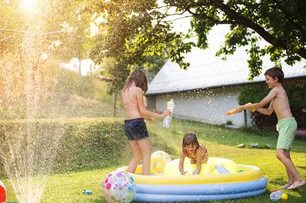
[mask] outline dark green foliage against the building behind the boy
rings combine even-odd
[[[283,84],[286,90],[291,108],[306,107],[306,85],[304,82],[290,82]],[[271,90],[266,85],[252,84],[245,85],[241,89],[238,102],[244,105],[248,102],[261,102]]]

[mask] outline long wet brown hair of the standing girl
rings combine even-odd
[[[129,89],[132,86],[132,82],[136,83],[137,88],[141,88],[143,92],[148,91],[148,81],[145,72],[140,69],[133,71],[129,77],[127,77],[123,93],[125,90]]]

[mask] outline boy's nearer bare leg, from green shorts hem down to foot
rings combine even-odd
[[[295,179],[295,182],[290,187],[288,187],[287,190],[295,189],[297,187],[301,187],[306,184],[305,181],[302,179],[302,177],[299,175],[291,159],[285,156],[284,149],[277,149],[276,157],[279,161],[281,161],[285,165],[286,169],[289,170],[289,173],[291,173]],[[288,179],[289,179],[289,176],[288,176]]]

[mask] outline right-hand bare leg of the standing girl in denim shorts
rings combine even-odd
[[[137,141],[138,146],[140,148],[140,152],[142,154],[142,175],[149,176],[150,175],[150,138],[144,138]]]

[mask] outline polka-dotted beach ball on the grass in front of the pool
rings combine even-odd
[[[101,190],[109,203],[129,203],[136,194],[136,183],[130,173],[113,171],[105,177]]]

